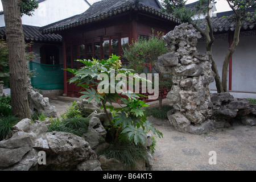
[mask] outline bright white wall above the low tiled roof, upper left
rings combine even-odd
[[[33,16],[22,16],[22,24],[46,26],[59,20],[84,13],[89,5],[84,0],[46,0],[39,3]],[[0,15],[0,27],[5,26],[3,15]]]

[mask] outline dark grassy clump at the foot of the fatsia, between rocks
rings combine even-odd
[[[142,160],[148,163],[147,149],[141,144],[134,142],[121,142],[112,144],[102,151],[99,151],[98,156],[105,155],[108,159],[117,159],[119,162],[125,164],[126,169],[131,169],[135,166],[135,162]]]

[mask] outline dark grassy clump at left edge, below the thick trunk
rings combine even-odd
[[[19,122],[19,118],[14,115],[1,116],[0,117],[0,140],[6,138],[7,134],[16,123]]]

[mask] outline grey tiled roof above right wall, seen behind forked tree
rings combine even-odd
[[[251,13],[254,12],[253,9],[250,9]],[[226,11],[224,13],[217,13],[216,17],[213,17],[211,19],[213,31],[214,32],[227,32],[227,31],[234,31],[236,28],[236,22],[230,22],[228,18],[223,18],[223,16],[230,16],[234,14],[233,11]],[[204,23],[204,20],[200,20],[201,23],[199,24],[199,27],[205,29],[206,24]],[[249,22],[242,22],[241,30],[252,30],[256,28],[256,23],[249,23]]]

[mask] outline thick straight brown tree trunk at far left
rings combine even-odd
[[[2,0],[2,5],[9,49],[11,111],[20,119],[31,119],[27,98],[24,34],[20,16],[21,0]]]

